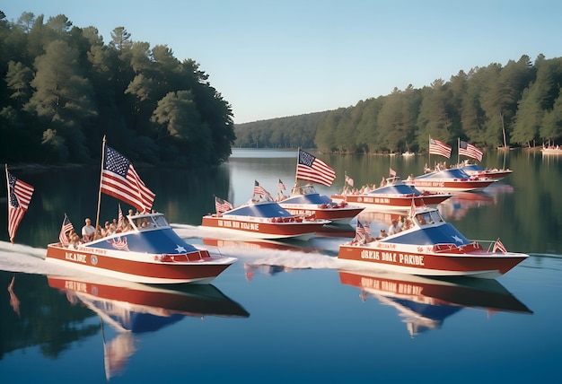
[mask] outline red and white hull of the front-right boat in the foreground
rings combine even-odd
[[[340,245],[338,258],[410,275],[496,278],[528,257],[510,252],[437,253],[433,249],[433,246],[379,241],[365,245],[347,243]]]

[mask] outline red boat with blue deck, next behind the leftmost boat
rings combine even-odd
[[[201,227],[243,238],[310,240],[329,223],[329,220],[290,214],[258,185],[248,202],[224,211],[217,208],[215,214],[203,216]]]

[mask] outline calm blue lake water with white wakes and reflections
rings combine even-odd
[[[432,156],[320,155],[356,186],[389,168],[404,179]],[[440,158],[439,160],[443,160]],[[455,159],[456,160],[456,159]],[[500,238],[531,255],[492,281],[451,282],[341,269],[352,227],[307,242],[239,242],[198,227],[214,195],[233,205],[254,181],[294,184],[296,150],[234,150],[212,172],[137,168],[154,208],[182,237],[239,260],[212,286],[143,285],[46,265],[64,214],[95,218],[99,170],[12,170],[35,187],[16,243],[0,223],[3,382],[555,382],[562,359],[562,156],[486,153],[514,173],[483,193],[443,203],[469,239]],[[3,200],[5,205],[5,199]],[[101,220],[117,215],[102,196]],[[373,214],[373,231],[388,227]],[[557,379],[558,378],[558,379]]]

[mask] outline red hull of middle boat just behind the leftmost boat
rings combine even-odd
[[[252,217],[246,220],[241,216],[212,214],[203,216],[201,226],[252,239],[310,240],[328,223],[325,220],[272,223],[270,220],[259,221]]]

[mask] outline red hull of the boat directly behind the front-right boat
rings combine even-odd
[[[450,198],[451,194],[425,194],[420,196],[384,196],[373,194],[332,195],[334,201],[347,201],[349,204],[360,205],[365,209],[408,211],[414,200],[415,205],[438,205]]]

